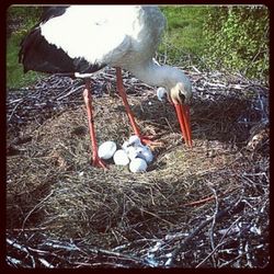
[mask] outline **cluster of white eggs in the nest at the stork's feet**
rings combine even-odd
[[[99,157],[103,160],[113,159],[117,165],[128,165],[132,172],[145,172],[152,162],[153,155],[148,146],[144,146],[136,135],[126,140],[121,149],[115,141],[109,140],[100,145]]]

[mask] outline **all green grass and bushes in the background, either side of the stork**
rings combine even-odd
[[[159,54],[170,64],[190,62],[212,69],[227,69],[267,82],[267,8],[259,5],[161,5],[168,26]],[[36,24],[41,7],[15,7],[8,10],[7,87],[33,83],[41,73],[23,73],[18,64],[22,37]],[[16,27],[12,28],[12,25]],[[9,32],[9,28],[10,32]],[[203,59],[203,64],[202,60]]]

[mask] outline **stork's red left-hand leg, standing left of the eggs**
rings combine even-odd
[[[90,129],[90,138],[91,138],[91,146],[92,146],[92,165],[98,168],[106,168],[106,164],[103,160],[101,160],[98,156],[98,142],[95,138],[95,130],[94,130],[94,121],[92,115],[92,95],[90,92],[90,80],[85,80],[85,89],[83,91],[83,99],[87,106],[88,113],[88,122],[89,122],[89,129]]]

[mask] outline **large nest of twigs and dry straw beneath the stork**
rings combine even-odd
[[[99,144],[132,128],[115,71],[94,76]],[[124,73],[141,132],[158,134],[146,173],[91,167],[83,82],[52,76],[8,93],[7,261],[14,267],[264,267],[269,264],[267,88],[186,71],[194,147],[173,106]]]

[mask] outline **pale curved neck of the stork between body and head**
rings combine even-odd
[[[129,69],[133,75],[145,83],[164,88],[170,85],[169,81],[172,70],[172,67],[159,66],[152,60]]]

